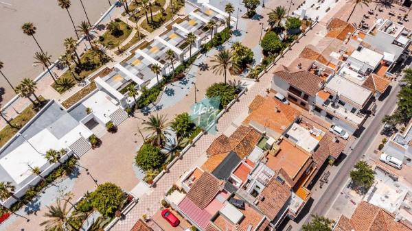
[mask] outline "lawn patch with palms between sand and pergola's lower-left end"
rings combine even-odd
[[[89,49],[82,55],[82,57],[80,57],[82,65],[76,66],[76,64],[73,64],[71,65],[71,69],[75,70],[76,77],[78,78],[78,80],[83,80],[85,77],[89,76],[91,73],[95,72],[97,69],[100,69],[101,66],[106,64],[108,62],[108,58],[109,57],[106,56],[106,60],[102,62],[102,60],[100,60],[98,56],[95,56],[93,54],[93,51]],[[67,86],[66,88],[59,87],[59,83],[61,83],[65,79],[68,79],[71,82],[71,86]],[[63,73],[58,78],[57,82],[58,84],[53,83],[52,87],[60,94],[65,93],[67,90],[69,90],[72,86],[76,84],[76,80],[74,80],[69,70]]]

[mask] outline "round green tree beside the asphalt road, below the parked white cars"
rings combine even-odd
[[[350,178],[355,186],[369,189],[375,180],[374,169],[365,160],[360,160],[354,166],[355,170],[350,171]]]

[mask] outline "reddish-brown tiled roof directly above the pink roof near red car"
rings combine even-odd
[[[203,209],[220,191],[222,182],[207,171],[193,184],[192,189],[187,193],[189,198],[196,206]]]

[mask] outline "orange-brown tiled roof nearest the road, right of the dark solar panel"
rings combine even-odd
[[[280,183],[276,177],[273,177],[260,193],[264,199],[259,201],[258,208],[273,221],[284,204],[288,202],[290,190],[290,186]]]

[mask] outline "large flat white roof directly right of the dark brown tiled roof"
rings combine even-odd
[[[326,88],[333,90],[337,95],[343,96],[356,104],[363,106],[371,95],[371,91],[345,79],[339,75],[334,75],[325,84]]]

